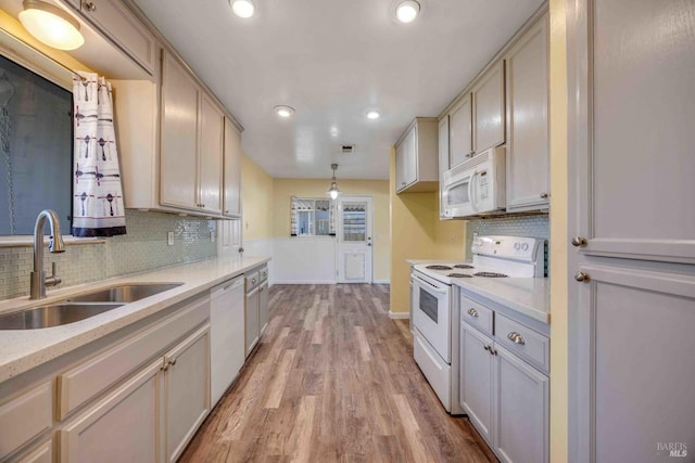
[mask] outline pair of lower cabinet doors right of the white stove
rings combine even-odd
[[[460,404],[497,458],[548,462],[548,376],[465,321],[459,358]]]

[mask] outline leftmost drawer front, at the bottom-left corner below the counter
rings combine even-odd
[[[53,425],[51,383],[0,406],[0,460]]]

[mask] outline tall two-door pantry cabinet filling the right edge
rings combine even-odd
[[[693,3],[567,5],[569,458],[690,459]]]

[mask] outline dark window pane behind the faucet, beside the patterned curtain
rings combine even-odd
[[[31,234],[47,208],[70,234],[72,111],[72,92],[0,56],[0,235]]]

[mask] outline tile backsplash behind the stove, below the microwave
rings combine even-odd
[[[473,233],[481,235],[500,234],[508,236],[531,236],[545,240],[545,274],[548,274],[548,240],[551,237],[549,218],[547,214],[532,216],[506,216],[469,220],[466,222],[466,257],[470,259],[470,245]]]

